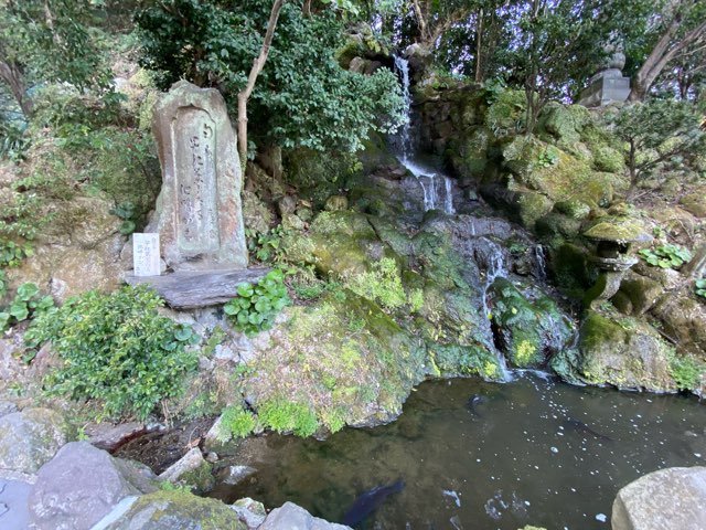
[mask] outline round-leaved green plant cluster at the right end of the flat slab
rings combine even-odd
[[[281,271],[275,269],[256,285],[238,285],[237,296],[223,307],[235,329],[248,337],[271,329],[279,311],[291,304],[284,277]]]

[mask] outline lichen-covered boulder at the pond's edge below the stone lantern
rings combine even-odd
[[[591,384],[674,392],[672,348],[646,322],[588,311],[579,333],[578,373]]]

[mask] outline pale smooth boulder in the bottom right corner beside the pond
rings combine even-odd
[[[706,528],[706,467],[671,467],[618,491],[612,530],[703,530]]]

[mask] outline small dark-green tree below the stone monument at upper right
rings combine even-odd
[[[706,149],[703,116],[696,105],[651,99],[609,115],[613,134],[627,144],[625,160],[634,188],[655,169],[683,169]]]

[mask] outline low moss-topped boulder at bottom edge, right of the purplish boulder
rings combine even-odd
[[[182,491],[143,495],[106,530],[247,530],[237,513],[216,499]]]

